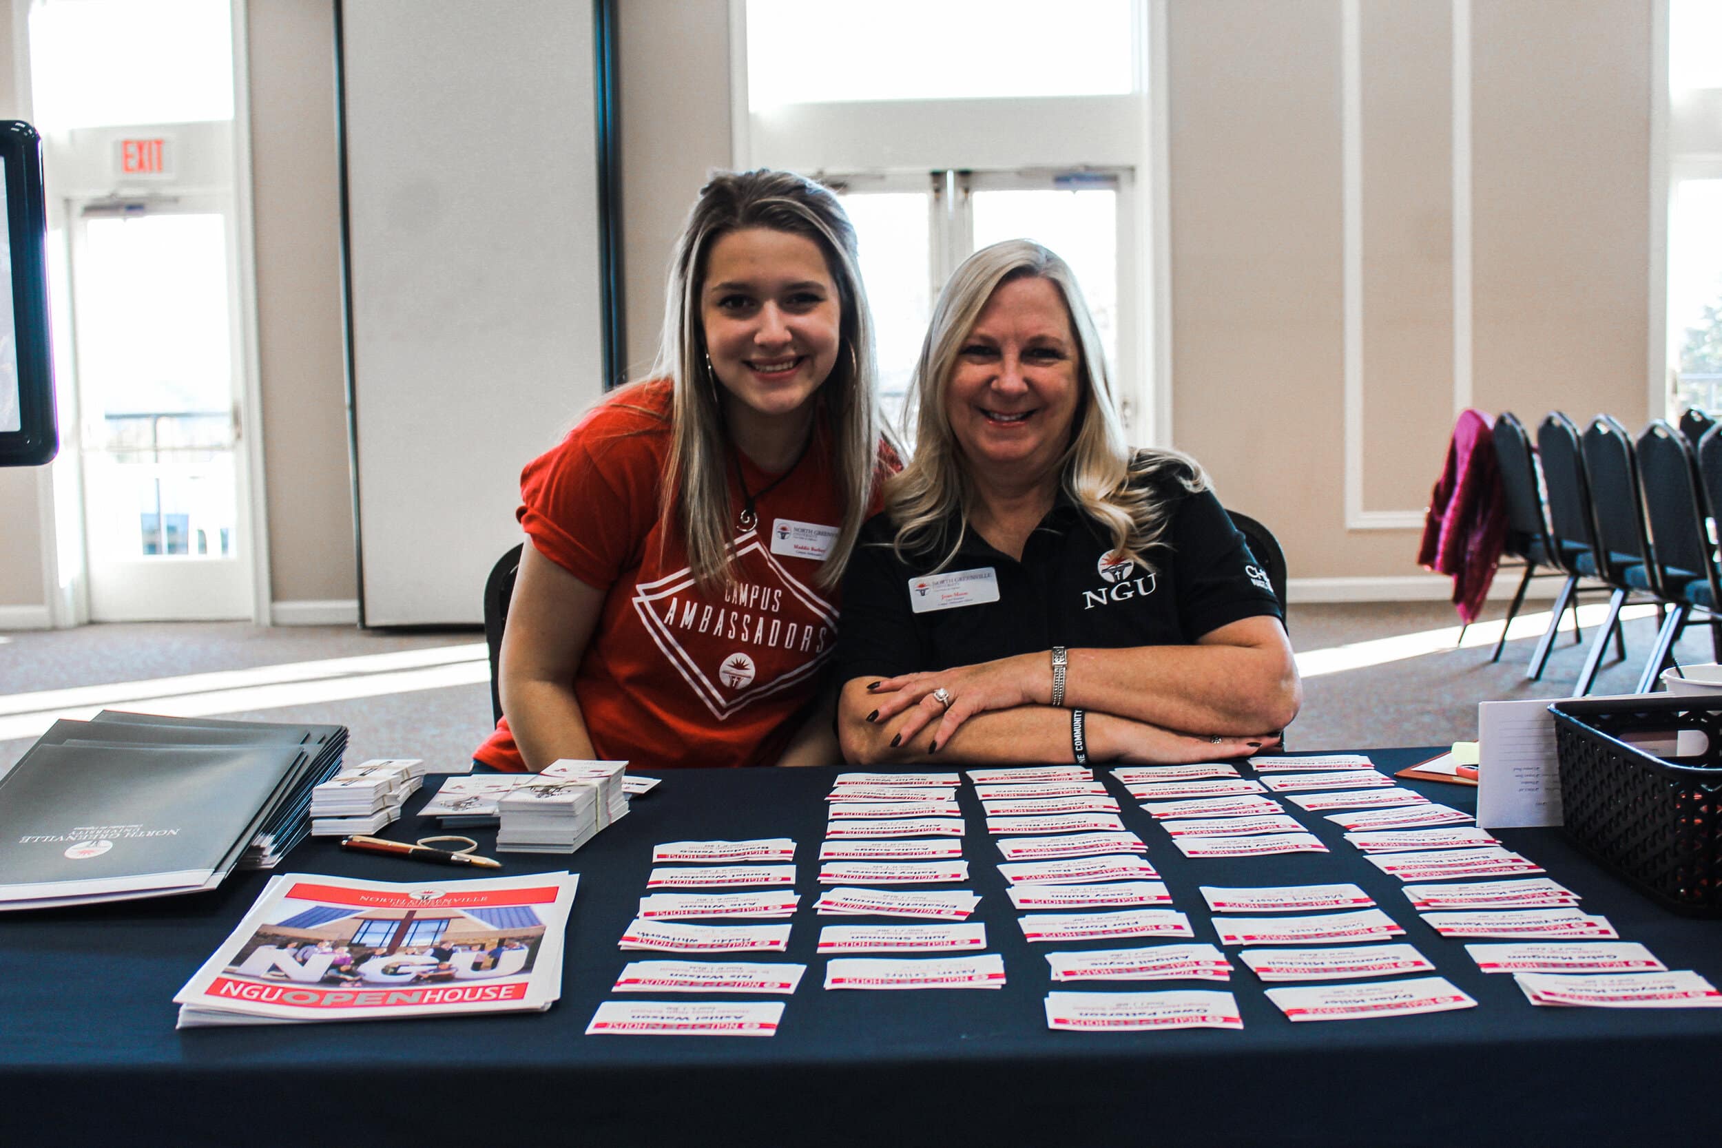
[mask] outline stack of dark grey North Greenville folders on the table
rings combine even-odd
[[[215,888],[305,838],[346,726],[103,711],[0,778],[0,910]]]

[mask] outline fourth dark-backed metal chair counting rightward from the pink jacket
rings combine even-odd
[[[1657,675],[1672,661],[1674,640],[1693,621],[1694,611],[1712,623],[1712,644],[1722,647],[1712,613],[1722,602],[1722,589],[1717,585],[1715,547],[1705,522],[1710,515],[1693,447],[1662,418],[1638,437],[1638,478],[1650,523],[1651,578],[1657,596],[1669,604],[1657,647],[1638,680],[1638,692],[1648,694],[1657,685]]]

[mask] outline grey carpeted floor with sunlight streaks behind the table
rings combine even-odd
[[[1503,613],[1502,604],[1491,604],[1488,618]],[[1562,637],[1543,680],[1529,682],[1529,630],[1541,632],[1541,623],[1527,621],[1527,633],[1514,637],[1491,664],[1498,621],[1491,626],[1484,620],[1465,647],[1455,649],[1457,623],[1443,602],[1293,606],[1304,713],[1288,731],[1290,749],[1446,744],[1476,737],[1479,701],[1567,694],[1591,630],[1579,645]],[[1629,621],[1629,657],[1605,663],[1593,694],[1631,692],[1653,637],[1655,618]],[[1688,664],[1713,661],[1710,639],[1696,626],[1677,654]],[[487,682],[482,635],[475,632],[241,623],[19,632],[0,635],[0,769],[10,768],[53,716],[88,716],[103,706],[339,721],[351,730],[350,762],[458,761],[491,725]]]

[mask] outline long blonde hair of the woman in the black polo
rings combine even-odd
[[[1059,482],[1071,499],[1112,535],[1112,552],[1154,570],[1149,551],[1171,546],[1166,528],[1171,522],[1168,499],[1157,497],[1169,480],[1188,492],[1207,489],[1202,466],[1180,451],[1131,451],[1124,442],[1124,425],[1112,399],[1112,382],[1093,317],[1069,265],[1057,255],[1030,243],[1007,239],[982,248],[963,260],[933,306],[933,322],[921,343],[921,358],[909,384],[904,422],[914,425],[914,458],[885,484],[885,509],[895,525],[897,554],[926,554],[947,547],[938,559],[944,568],[969,528],[975,489],[945,401],[957,355],[992,293],[1013,279],[1045,279],[1064,298],[1071,329],[1080,349],[1078,377],[1081,399],[1071,429],[1069,446],[1059,458]],[[954,537],[945,532],[956,522]]]

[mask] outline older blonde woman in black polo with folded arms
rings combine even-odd
[[[918,444],[844,577],[859,762],[1236,757],[1302,701],[1281,608],[1173,451],[1130,451],[1069,267],[969,256],[933,310]]]

